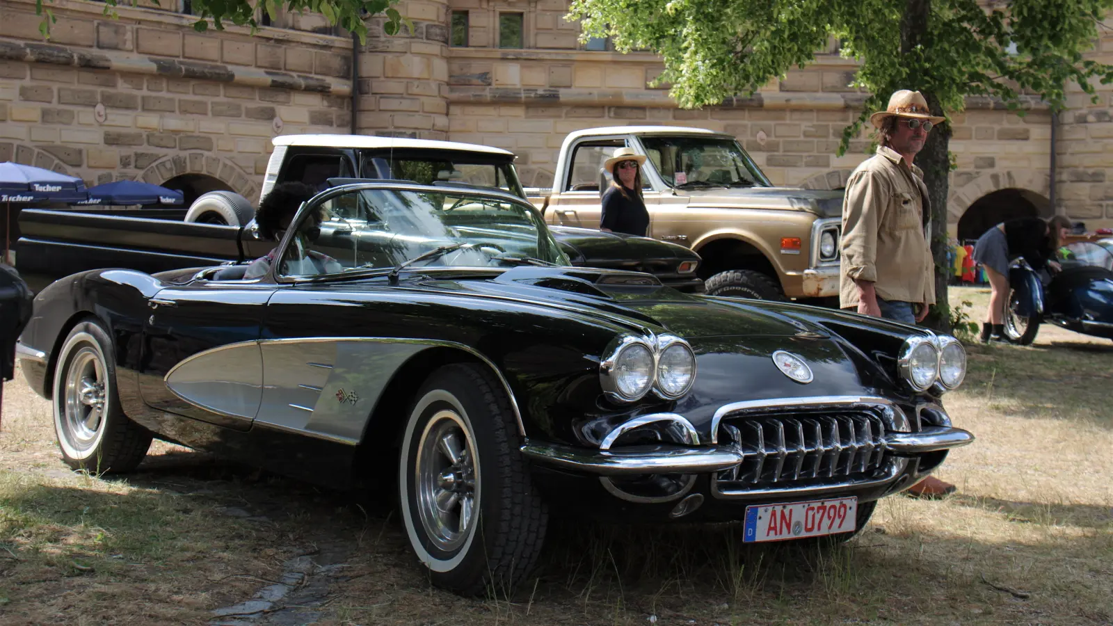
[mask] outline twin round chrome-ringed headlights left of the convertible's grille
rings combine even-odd
[[[636,402],[650,390],[666,399],[680,398],[696,380],[696,354],[684,340],[619,339],[599,366],[603,393],[615,402]]]

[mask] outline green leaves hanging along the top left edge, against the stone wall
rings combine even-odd
[[[47,0],[49,3],[51,0]],[[176,2],[177,0],[170,0]],[[395,35],[398,32],[400,28],[405,25],[411,28],[408,20],[398,13],[397,9],[393,6],[397,3],[398,0],[255,0],[250,2],[249,0],[191,0],[190,9],[191,13],[197,17],[197,21],[194,22],[194,30],[198,32],[205,32],[209,29],[209,26],[217,30],[224,30],[224,22],[229,21],[236,26],[247,26],[250,27],[252,32],[258,28],[256,22],[256,17],[262,14],[262,11],[266,11],[272,18],[278,9],[285,8],[290,12],[308,11],[314,13],[321,13],[325,16],[328,23],[338,23],[345,30],[353,32],[359,37],[361,43],[366,43],[367,41],[367,25],[364,23],[364,18],[370,16],[377,16],[380,13],[386,14],[386,23],[383,25],[383,30],[386,35]],[[118,6],[131,6],[135,0],[104,0],[105,2],[105,14],[110,14],[115,17],[115,8]],[[152,0],[156,4],[159,0]],[[48,7],[43,7],[43,0],[36,0],[35,3],[36,12],[40,16],[45,14],[46,19],[39,25],[39,30],[42,32],[43,37],[50,37],[50,25],[53,23],[55,17]]]

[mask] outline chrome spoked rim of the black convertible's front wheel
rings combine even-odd
[[[464,420],[437,411],[422,432],[415,468],[417,510],[425,535],[444,551],[459,548],[475,524],[475,444]]]

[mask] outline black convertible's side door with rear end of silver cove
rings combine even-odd
[[[144,324],[144,402],[168,413],[250,428],[263,395],[259,332],[275,288],[262,280],[200,280],[156,293]]]

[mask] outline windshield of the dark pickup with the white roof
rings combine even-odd
[[[506,158],[465,151],[414,149],[366,150],[361,155],[365,178],[396,178],[418,185],[466,184],[525,197],[514,165]]]

